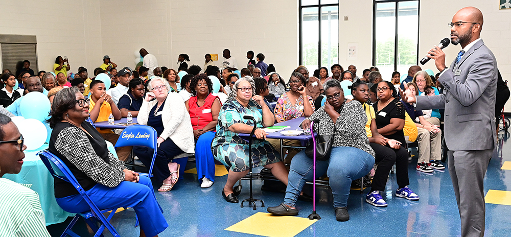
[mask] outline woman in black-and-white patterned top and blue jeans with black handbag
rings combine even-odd
[[[311,121],[319,120],[314,124],[318,137],[332,134],[335,128],[330,155],[316,162],[316,174],[319,177],[327,173],[334,196],[335,217],[337,221],[347,221],[350,219],[346,206],[351,182],[373,168],[375,152],[365,134],[367,116],[360,103],[344,99],[337,80],[327,81],[324,91],[327,97],[324,106],[304,120],[301,126],[309,129]],[[316,159],[319,159],[318,156]],[[295,203],[304,184],[314,178],[312,167],[313,161],[305,150],[296,154],[291,162],[284,202],[268,207],[268,212],[278,216],[298,215]]]

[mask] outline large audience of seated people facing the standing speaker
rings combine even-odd
[[[184,60],[180,61],[177,71],[158,66],[150,69],[144,64],[135,70],[129,67],[118,69],[118,65],[105,56],[94,75],[107,74],[111,79],[109,88],[103,81],[89,78],[84,67],[71,77],[68,60],[60,56],[56,58],[54,73],[41,71],[35,76],[27,69],[29,67],[24,67],[16,78],[4,70],[0,75],[3,82],[0,113],[21,116],[19,103],[24,94],[34,91],[47,94],[52,106],[50,151],[71,168],[79,182],[85,184],[86,192],[107,197],[97,200],[101,205],[125,206],[124,201],[111,196],[114,192],[127,195],[129,202],[141,202],[139,208],[135,208],[141,217],[141,236],[144,232],[154,236],[168,226],[159,213],[151,183],[159,186],[158,192],[171,191],[179,180],[181,165],[174,157],[182,153],[195,155],[201,188],[214,184],[215,162],[225,165],[228,175],[221,195],[231,203],[239,202],[237,196],[241,190],[234,185],[248,173],[249,165],[269,169],[276,179],[287,185],[287,191],[283,203],[269,207],[268,212],[298,215],[296,200],[302,195],[305,182],[312,180],[312,160],[299,149],[286,148],[280,154],[280,140],[267,139],[268,134],[262,129],[295,118],[306,117],[300,125],[302,129],[309,129],[310,122],[319,118],[315,130],[320,134],[334,134],[330,158],[318,161],[316,169],[317,173],[329,177],[338,221],[349,220],[346,207],[352,181],[368,174],[375,162],[378,166],[365,196],[367,203],[387,206],[381,192],[385,191],[394,163],[398,184],[395,196],[419,200],[408,187],[409,154],[404,131],[407,116],[412,121],[417,119],[414,123],[419,141],[416,169],[423,172],[444,169],[439,161],[440,115],[433,110],[428,117],[428,111],[415,111],[413,105],[400,101],[400,91],[394,87],[400,83],[398,72],[392,77],[385,75],[387,81],[382,79],[376,67],[364,69],[358,77],[354,65],[343,70],[341,65],[334,64],[330,72],[327,67],[320,67],[316,76],[310,76],[307,67],[298,66],[288,75],[289,80],[284,80],[281,76],[284,74],[277,73],[273,64],[263,62],[262,54],[257,55],[257,64],[249,63],[243,68],[233,67],[237,65],[234,57],[225,61],[229,66],[220,68],[211,61],[211,55],[205,56],[204,68],[188,67],[184,61],[189,60],[185,60],[185,56],[188,57],[179,56]],[[408,87],[417,95],[438,94],[432,76],[416,70],[418,66],[412,67]],[[180,77],[183,71],[186,74]],[[340,86],[343,80],[354,82],[350,87],[353,100],[344,97]],[[18,88],[15,88],[16,84],[19,84]],[[215,85],[220,86],[215,89]],[[321,100],[324,105],[317,103]],[[136,117],[138,124],[151,126],[157,132],[158,150],[152,182],[126,169],[123,162],[133,151],[133,155],[149,167],[151,149],[119,148],[119,158],[115,159],[106,150],[105,140],[115,144],[119,135],[110,129],[94,129],[84,123],[87,118],[96,123],[108,121],[110,115],[119,120],[128,114]],[[248,141],[240,137],[240,133],[250,133],[253,128],[253,122],[245,119],[245,115],[253,116],[257,122],[254,133],[257,139],[253,140],[251,158]],[[2,121],[0,115],[0,127],[9,125]],[[301,146],[292,139],[284,139],[284,145]],[[69,211],[85,210],[87,206],[81,197],[66,185],[56,182],[59,205]],[[142,198],[140,193],[132,194],[133,190],[150,195]]]

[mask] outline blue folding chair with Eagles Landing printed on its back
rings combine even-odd
[[[120,147],[147,147],[154,149],[153,158],[151,159],[151,166],[149,167],[149,173],[140,173],[140,176],[153,177],[153,166],[156,153],[158,152],[158,134],[154,128],[147,125],[131,125],[123,130],[117,143],[115,143],[115,149]]]

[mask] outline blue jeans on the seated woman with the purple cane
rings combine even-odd
[[[316,161],[316,178],[327,173],[334,196],[334,207],[344,207],[350,196],[352,180],[369,173],[374,164],[375,158],[358,148],[332,147],[328,160]],[[284,203],[295,206],[305,182],[312,181],[313,176],[313,160],[305,154],[305,150],[300,151],[291,161]]]

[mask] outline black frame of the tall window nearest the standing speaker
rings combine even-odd
[[[421,0],[374,0],[373,1],[373,66],[376,65],[376,5],[379,3],[396,3],[394,12],[396,12],[396,26],[394,26],[394,71],[398,70],[398,26],[399,26],[399,3],[417,1],[417,52],[415,65],[419,65],[419,36],[421,34]]]

